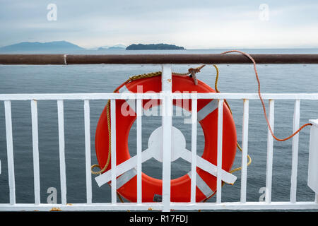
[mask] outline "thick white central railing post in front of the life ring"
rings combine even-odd
[[[163,65],[163,211],[170,211],[171,178],[171,136],[172,136],[172,71],[170,65]]]

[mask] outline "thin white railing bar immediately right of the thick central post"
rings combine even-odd
[[[192,138],[191,138],[191,203],[196,203],[196,119],[197,119],[197,103],[198,101],[192,98]]]

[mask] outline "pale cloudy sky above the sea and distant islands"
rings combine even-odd
[[[61,40],[85,48],[318,47],[318,1],[0,0],[0,31],[0,47]]]

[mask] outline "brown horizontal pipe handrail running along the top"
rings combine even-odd
[[[257,64],[318,64],[318,54],[251,54]],[[251,64],[241,54],[0,54],[0,64]]]

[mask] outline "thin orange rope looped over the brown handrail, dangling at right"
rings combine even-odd
[[[265,104],[264,104],[264,100],[263,98],[261,97],[261,83],[259,82],[259,75],[257,73],[257,67],[256,67],[256,63],[254,61],[254,59],[247,53],[245,52],[241,52],[239,50],[230,50],[230,51],[226,51],[226,52],[223,52],[221,54],[228,54],[230,52],[238,52],[240,54],[243,54],[245,55],[245,57],[248,57],[252,63],[254,64],[254,71],[255,71],[255,76],[257,78],[257,83],[258,83],[258,93],[259,93],[259,100],[261,100],[261,105],[263,106],[263,110],[264,110],[264,117],[266,119],[266,122],[267,122],[267,126],[269,126],[269,131],[271,132],[271,136],[273,136],[273,138],[276,139],[276,141],[287,141],[288,139],[292,138],[293,136],[295,136],[297,133],[299,133],[305,126],[312,126],[311,123],[307,123],[307,124],[304,124],[300,127],[300,129],[298,129],[298,131],[295,131],[295,133],[293,133],[292,135],[288,136],[287,138],[283,138],[283,139],[280,139],[280,138],[277,138],[274,134],[273,134],[273,131],[271,129],[271,125],[269,124],[269,119],[267,118],[267,114],[266,114],[266,107],[265,107]]]

